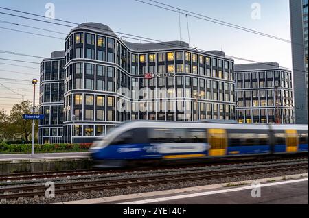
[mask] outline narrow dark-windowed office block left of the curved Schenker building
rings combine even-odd
[[[62,143],[63,96],[65,91],[65,51],[54,51],[41,62],[40,114],[45,119],[38,125],[39,143]]]

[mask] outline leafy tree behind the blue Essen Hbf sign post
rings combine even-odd
[[[32,105],[30,101],[23,101],[20,104],[15,104],[10,111],[10,125],[8,132],[14,138],[21,138],[26,143],[30,141],[32,134],[32,120],[24,120],[23,114],[31,114]],[[38,121],[36,121],[35,132],[38,132]]]

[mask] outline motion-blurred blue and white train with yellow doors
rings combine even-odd
[[[96,167],[308,153],[308,125],[128,121],[90,152]]]

